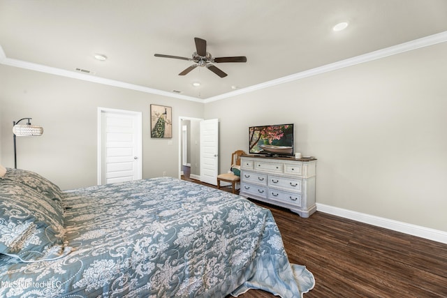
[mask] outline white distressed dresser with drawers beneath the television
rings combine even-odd
[[[240,158],[240,195],[291,209],[301,217],[316,211],[314,158]]]

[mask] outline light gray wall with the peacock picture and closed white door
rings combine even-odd
[[[0,65],[0,163],[13,167],[13,121],[32,117],[41,137],[17,137],[17,167],[63,189],[96,185],[97,108],[142,112],[142,176],[178,177],[179,116],[203,117],[203,103]],[[173,138],[150,137],[150,104],[173,107]],[[168,142],[172,141],[172,144]]]

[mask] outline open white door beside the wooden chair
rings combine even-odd
[[[217,185],[219,171],[219,121],[200,121],[200,181]]]

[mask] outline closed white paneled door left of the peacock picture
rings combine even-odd
[[[98,184],[142,178],[141,112],[98,108]]]

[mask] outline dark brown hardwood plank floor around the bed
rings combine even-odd
[[[447,244],[318,211],[300,218],[254,202],[272,211],[290,262],[314,274],[315,288],[305,298],[447,297]],[[275,296],[249,290],[240,297]]]

